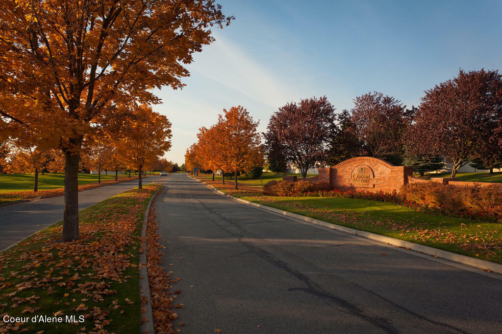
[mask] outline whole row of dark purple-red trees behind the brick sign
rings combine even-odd
[[[315,165],[334,166],[372,156],[425,173],[453,164],[451,176],[473,167],[502,167],[502,76],[460,70],[458,77],[425,92],[420,106],[373,92],[336,114],[326,97],[289,103],[274,113],[264,134],[269,168],[294,163],[306,177]]]

